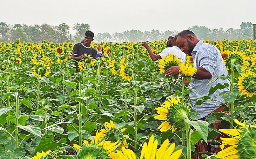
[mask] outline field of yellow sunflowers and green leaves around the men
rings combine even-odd
[[[220,50],[229,76],[218,78],[230,81],[209,91],[228,88],[230,108],[205,121],[194,121],[184,82],[196,73],[190,56],[154,62],[142,42],[93,42],[104,56],[75,73],[73,43],[0,43],[0,159],[190,159],[199,140],[221,133],[223,150],[203,157],[256,158],[256,40],[204,42]],[[166,40],[149,45],[158,54]],[[164,75],[172,66],[182,79]],[[219,119],[220,130],[209,127]]]

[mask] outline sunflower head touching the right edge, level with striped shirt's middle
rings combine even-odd
[[[251,97],[256,92],[256,75],[252,71],[241,73],[238,77],[238,91],[241,94],[245,94],[247,97]]]

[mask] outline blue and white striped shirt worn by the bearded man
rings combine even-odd
[[[228,72],[226,71],[225,63],[222,60],[221,53],[214,45],[204,43],[202,40],[200,40],[194,47],[191,54],[194,60],[193,66],[195,68],[203,67],[204,69],[209,71],[212,77],[210,79],[191,78],[189,88],[195,89],[198,94],[196,94],[193,90],[189,90],[189,98],[208,96],[210,88],[214,87],[218,83],[230,84],[228,79],[225,79],[225,80],[217,79],[215,82],[209,84],[209,82],[212,79],[214,79],[216,76],[220,76],[223,74],[225,76],[228,75]],[[210,95],[210,97],[215,97],[216,100],[225,103],[225,101],[219,95],[219,93],[227,90],[228,90],[227,88],[222,90],[217,89],[213,94]],[[218,107],[222,105],[218,101],[207,101],[201,105],[195,105],[197,100],[191,100],[190,103],[193,106],[193,109],[195,109],[199,113],[199,115],[197,116],[197,119],[201,119],[207,116],[208,114],[210,114],[211,112],[215,111]]]

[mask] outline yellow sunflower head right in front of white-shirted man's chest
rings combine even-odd
[[[164,73],[168,68],[172,68],[173,66],[178,66],[181,63],[181,60],[178,56],[174,56],[173,54],[169,54],[168,56],[164,56],[159,60],[159,71]]]

